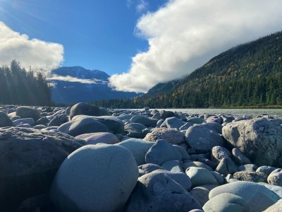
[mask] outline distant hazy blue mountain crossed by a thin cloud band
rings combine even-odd
[[[109,75],[104,71],[87,70],[80,66],[59,67],[48,79],[51,98],[56,103],[90,102],[113,98],[133,98],[138,93],[112,90]]]

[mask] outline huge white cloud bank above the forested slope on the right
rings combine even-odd
[[[116,90],[146,92],[187,75],[216,54],[282,30],[281,0],[171,0],[138,20],[137,35],[149,42],[127,73],[115,74]]]

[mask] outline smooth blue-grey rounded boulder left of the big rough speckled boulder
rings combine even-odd
[[[198,153],[208,153],[214,146],[223,146],[224,141],[215,131],[202,125],[191,126],[186,131],[186,141]]]

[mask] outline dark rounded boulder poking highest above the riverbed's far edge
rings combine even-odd
[[[73,107],[71,107],[70,119],[73,119],[73,117],[80,114],[89,115],[89,116],[99,116],[100,109],[96,105],[90,105],[84,102],[80,102],[78,104],[73,105]]]

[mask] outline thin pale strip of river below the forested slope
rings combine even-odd
[[[185,112],[188,114],[231,114],[233,117],[257,117],[269,115],[271,117],[282,118],[282,109],[212,109],[212,108],[188,108],[188,109],[157,109],[170,110],[173,112]]]

